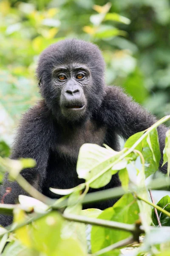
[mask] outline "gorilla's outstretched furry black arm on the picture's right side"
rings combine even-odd
[[[139,104],[122,92],[119,87],[106,87],[106,95],[102,104],[105,122],[113,127],[123,138],[127,139],[131,135],[144,131],[156,122],[156,117],[144,110]],[[167,127],[158,127],[159,144],[161,151],[160,169],[167,172],[167,165],[161,167],[163,163],[163,149]]]

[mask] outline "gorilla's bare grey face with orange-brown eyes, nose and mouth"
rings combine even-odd
[[[57,87],[62,115],[71,121],[79,120],[87,108],[85,95],[91,87],[90,70],[80,64],[61,65],[53,70],[52,80]]]

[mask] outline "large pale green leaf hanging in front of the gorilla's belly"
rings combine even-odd
[[[107,185],[112,177],[111,167],[117,154],[120,152],[111,151],[110,149],[100,147],[96,144],[84,144],[79,150],[77,161],[77,174],[79,178],[86,181],[91,180],[104,169],[108,171],[90,183],[92,188],[100,188]]]

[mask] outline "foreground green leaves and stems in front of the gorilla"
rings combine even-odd
[[[63,198],[51,201],[50,198],[40,196],[30,187],[31,195],[35,198],[20,195],[20,204],[14,209],[10,205],[0,206],[0,212],[14,215],[11,231],[15,234],[15,239],[11,236],[8,238],[9,232],[1,228],[0,250],[3,250],[6,241],[10,241],[2,255],[11,253],[12,256],[34,254],[52,256],[59,253],[61,256],[87,256],[91,250],[94,256],[117,256],[119,255],[117,247],[125,247],[132,241],[139,241],[141,233],[145,233],[146,236],[142,246],[139,246],[139,255],[141,253],[152,255],[155,247],[159,253],[169,250],[170,197],[166,195],[168,192],[164,191],[165,196],[157,206],[150,203],[147,193],[150,184],[146,179],[156,172],[159,166],[160,150],[156,128],[169,118],[170,116],[166,116],[146,131],[131,136],[125,143],[125,148],[119,152],[107,145],[105,148],[95,144],[82,145],[79,151],[77,173],[80,178],[85,179],[85,183],[75,188],[63,189],[63,191],[50,188],[54,193],[64,195]],[[166,144],[166,152],[168,150],[169,145]],[[167,161],[169,162],[169,157]],[[0,157],[2,170],[7,170],[23,188],[28,184],[20,180],[19,173],[22,169],[31,168],[34,164],[30,159],[9,160]],[[113,207],[104,211],[82,210],[82,203],[89,187],[100,188],[107,185],[116,172],[119,174],[125,195]],[[112,193],[110,195],[108,190],[105,199],[114,197],[114,192]],[[92,194],[92,201],[93,197]],[[67,201],[65,201],[66,198]],[[150,205],[159,207],[157,212],[161,225],[166,226],[165,228],[150,227],[152,221],[153,224],[158,224],[155,210]],[[61,211],[58,212],[57,209],[60,208]],[[11,212],[12,209],[13,212]],[[87,239],[85,223],[92,224],[90,241]],[[124,239],[129,239],[129,242],[122,243]],[[113,245],[115,247],[112,248]]]

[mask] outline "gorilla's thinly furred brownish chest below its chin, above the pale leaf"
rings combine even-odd
[[[102,145],[105,141],[106,128],[95,121],[88,121],[82,127],[65,127],[57,140],[57,152],[67,157],[78,157],[79,148],[84,143]]]

